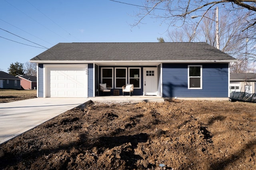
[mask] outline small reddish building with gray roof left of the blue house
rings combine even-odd
[[[20,78],[20,88],[25,90],[33,90],[36,89],[37,81],[36,76],[16,76]]]

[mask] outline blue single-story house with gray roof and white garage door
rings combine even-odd
[[[230,64],[207,43],[58,43],[34,57],[38,97],[95,97],[134,84],[133,95],[229,99]]]

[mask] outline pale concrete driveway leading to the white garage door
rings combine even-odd
[[[89,100],[89,98],[34,98],[0,103],[0,144]]]

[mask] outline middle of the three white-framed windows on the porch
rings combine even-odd
[[[126,80],[127,80],[127,68],[115,68],[115,72],[116,72],[116,84],[115,84],[115,88],[122,88],[122,86],[126,85]]]

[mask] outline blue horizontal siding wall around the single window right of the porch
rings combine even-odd
[[[188,65],[202,65],[202,89],[188,89]],[[228,97],[228,63],[162,64],[163,97]]]

